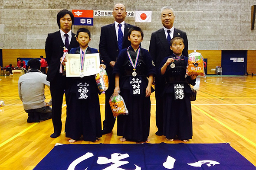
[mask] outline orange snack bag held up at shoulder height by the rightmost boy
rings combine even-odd
[[[205,76],[203,67],[203,56],[196,50],[188,55],[186,75]]]

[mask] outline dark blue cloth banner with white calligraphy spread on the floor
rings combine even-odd
[[[61,144],[34,170],[256,170],[230,144]]]

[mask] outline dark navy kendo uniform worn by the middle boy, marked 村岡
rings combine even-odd
[[[130,50],[131,49],[131,50]],[[136,54],[133,48],[129,48],[131,59],[135,61]],[[117,135],[123,136],[127,140],[131,141],[147,141],[150,128],[150,110],[151,101],[150,97],[145,97],[145,91],[148,87],[147,77],[150,74],[156,74],[154,62],[149,52],[143,48],[140,50],[138,57],[138,63],[136,66],[137,76],[133,77],[133,66],[127,55],[127,49],[120,51],[118,59],[115,63],[113,74],[119,74],[120,80],[120,95],[125,100],[125,105],[128,109],[128,115],[119,115],[117,124]],[[132,90],[131,81],[141,80],[140,94]],[[137,84],[137,83],[136,83]],[[151,89],[151,93],[153,92]]]

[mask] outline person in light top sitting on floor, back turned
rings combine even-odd
[[[27,74],[20,76],[18,81],[19,96],[28,113],[28,123],[52,118],[52,108],[44,101],[44,88],[45,85],[50,88],[50,83],[46,80],[46,75],[39,71],[40,65],[38,59],[30,59]]]

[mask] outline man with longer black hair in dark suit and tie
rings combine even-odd
[[[51,138],[57,138],[62,129],[61,110],[66,77],[60,73],[60,58],[63,55],[64,47],[78,47],[76,35],[71,32],[74,23],[74,15],[69,10],[61,10],[57,14],[59,31],[49,33],[46,39],[45,52],[46,61],[49,65],[47,80],[50,82],[52,96],[52,113],[54,133]]]

